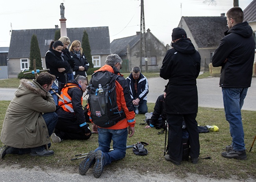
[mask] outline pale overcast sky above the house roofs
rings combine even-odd
[[[0,47],[9,47],[11,29],[60,28],[63,2],[67,28],[108,26],[110,42],[140,31],[141,0],[0,0]],[[250,2],[239,0],[239,6]],[[144,0],[145,30],[170,44],[181,16],[220,16],[231,7],[233,0]]]

